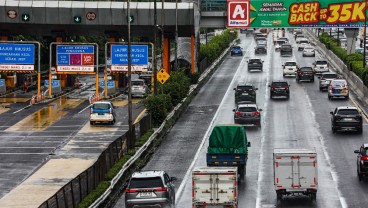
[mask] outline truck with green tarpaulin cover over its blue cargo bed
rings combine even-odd
[[[250,142],[243,126],[215,126],[209,138],[207,166],[235,166],[242,177],[246,172],[248,147]]]

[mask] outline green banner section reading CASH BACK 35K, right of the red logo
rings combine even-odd
[[[251,0],[250,27],[364,27],[366,2]]]

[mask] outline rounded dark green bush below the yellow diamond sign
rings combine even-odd
[[[159,89],[158,89],[159,91]],[[171,97],[167,94],[152,94],[149,95],[143,104],[147,111],[152,116],[153,125],[160,125],[166,118],[169,111],[172,109]]]

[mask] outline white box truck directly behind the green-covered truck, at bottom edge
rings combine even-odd
[[[238,207],[237,167],[201,167],[192,171],[193,207]]]

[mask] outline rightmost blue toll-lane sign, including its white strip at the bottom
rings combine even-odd
[[[131,70],[147,72],[148,45],[131,45]],[[111,45],[111,71],[128,71],[128,45]]]

